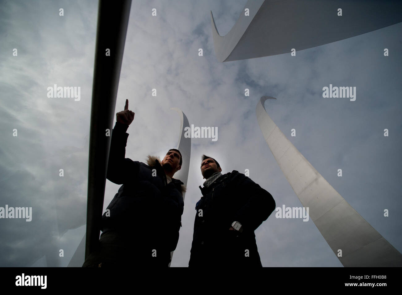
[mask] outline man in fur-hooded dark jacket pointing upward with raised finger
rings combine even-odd
[[[173,178],[181,169],[181,153],[170,149],[162,161],[148,156],[147,163],[125,158],[126,131],[134,119],[128,100],[116,119],[107,179],[122,186],[102,216],[99,247],[83,267],[168,267],[184,207],[185,187]]]

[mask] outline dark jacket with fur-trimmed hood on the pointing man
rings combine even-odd
[[[156,157],[148,165],[125,158],[128,126],[116,122],[112,132],[107,179],[123,184],[102,216],[102,230],[113,230],[131,242],[130,255],[170,262],[183,214],[183,182],[166,175]],[[110,212],[108,212],[110,210]],[[152,251],[156,250],[156,257]],[[146,259],[148,260],[148,259]]]

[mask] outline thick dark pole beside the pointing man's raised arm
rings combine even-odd
[[[110,136],[106,136],[106,129],[113,128],[130,7],[131,0],[99,1],[92,85],[85,258],[99,241],[110,148]],[[110,49],[110,56],[106,54],[107,49]]]

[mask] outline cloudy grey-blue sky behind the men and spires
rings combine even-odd
[[[0,267],[66,267],[86,230],[98,1],[0,2],[0,207],[32,207],[31,222],[0,219]],[[128,99],[135,112],[126,158],[144,162],[176,147],[180,119],[173,107],[190,124],[218,130],[216,141],[192,139],[183,226],[171,267],[188,266],[203,154],[217,159],[223,173],[248,169],[277,207],[302,206],[258,126],[261,96],[277,98],[265,103],[277,126],[401,252],[402,24],[297,51],[296,57],[220,63],[210,10],[223,36],[246,2],[131,4],[115,108],[123,110]],[[48,98],[47,87],[54,84],[80,87],[80,100]],[[330,84],[356,87],[356,100],[323,98],[322,88]],[[106,181],[104,210],[119,187]],[[311,219],[279,219],[274,211],[255,234],[264,267],[342,267]]]

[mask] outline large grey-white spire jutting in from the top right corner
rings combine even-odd
[[[398,22],[402,2],[396,0],[248,0],[233,28],[221,37],[211,12],[220,62],[290,54],[292,48],[308,49]]]

